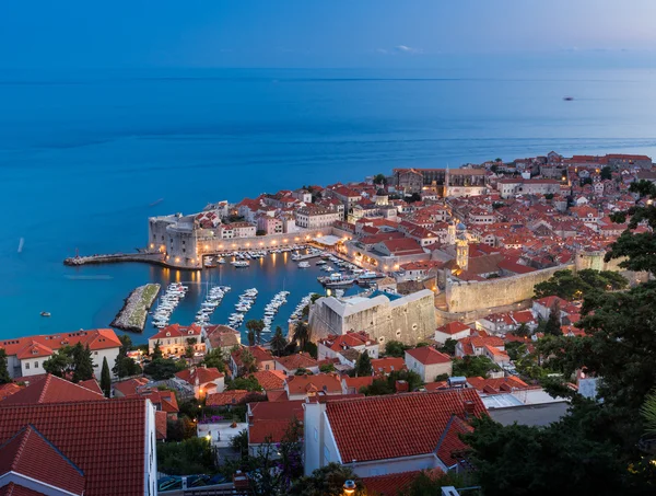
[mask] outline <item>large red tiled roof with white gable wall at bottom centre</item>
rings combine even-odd
[[[326,415],[341,460],[364,462],[433,452],[450,417],[466,416],[466,402],[473,415],[485,413],[475,390],[450,390],[330,401]]]

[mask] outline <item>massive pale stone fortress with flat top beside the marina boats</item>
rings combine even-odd
[[[363,331],[383,346],[414,345],[435,332],[434,295],[423,289],[405,297],[319,298],[309,309],[309,326],[319,339]]]

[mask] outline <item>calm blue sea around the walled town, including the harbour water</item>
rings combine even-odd
[[[0,339],[106,327],[134,287],[173,280],[192,288],[174,322],[192,322],[221,284],[233,291],[212,322],[246,288],[260,290],[246,319],[285,289],[273,325],[286,330],[321,289],[317,267],[288,255],[203,273],[62,261],[144,246],[150,216],[393,168],[551,150],[654,157],[654,88],[649,68],[577,65],[0,70]]]

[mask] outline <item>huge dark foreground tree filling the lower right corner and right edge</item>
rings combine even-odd
[[[636,183],[642,201],[612,216],[629,230],[611,245],[606,259],[656,275],[656,185]],[[649,231],[634,233],[645,222]],[[656,387],[656,281],[622,292],[585,295],[577,338],[546,336],[537,348],[543,366],[569,381],[585,367],[600,378],[598,396],[583,400],[565,384],[548,384],[552,394],[570,396],[569,413],[542,428],[503,427],[492,420],[476,425],[465,437],[472,448],[485,495],[505,494],[631,494],[648,495],[656,484],[655,455],[648,449],[648,418],[644,415]],[[549,461],[548,461],[549,460]],[[514,465],[514,466],[513,466]],[[519,469],[519,470],[518,470]],[[518,493],[517,487],[526,487]]]

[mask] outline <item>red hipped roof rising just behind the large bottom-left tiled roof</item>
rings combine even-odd
[[[3,406],[37,403],[65,403],[65,402],[86,402],[105,400],[99,393],[73,384],[66,379],[47,374],[40,381],[30,384],[27,388],[0,402],[0,410]]]

